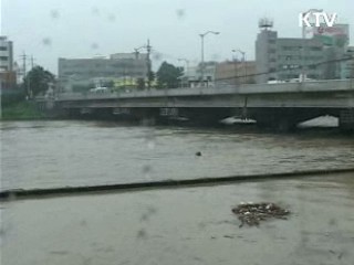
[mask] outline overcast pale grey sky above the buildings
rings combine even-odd
[[[206,36],[205,57],[231,60],[232,49],[254,59],[258,20],[274,20],[280,36],[300,36],[298,15],[311,8],[336,12],[340,23],[351,25],[354,38],[353,0],[0,0],[1,34],[20,54],[56,74],[58,57],[92,57],[133,52],[146,43],[155,51],[154,68],[162,60],[181,65],[178,57],[200,61],[199,33]],[[351,40],[353,44],[353,40]]]

